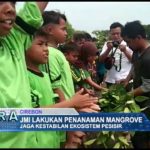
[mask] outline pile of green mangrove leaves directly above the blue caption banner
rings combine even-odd
[[[141,111],[140,107],[135,103],[133,96],[128,94],[122,85],[113,85],[108,92],[103,92],[99,103],[103,112]]]

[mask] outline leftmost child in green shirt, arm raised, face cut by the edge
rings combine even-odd
[[[47,2],[26,2],[16,17],[15,2],[0,2],[1,108],[31,108],[24,50],[33,31],[42,25],[41,12],[46,5]],[[34,147],[34,135],[34,132],[1,132],[0,148]]]

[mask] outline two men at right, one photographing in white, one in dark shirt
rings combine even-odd
[[[128,22],[123,27],[116,22],[110,26],[110,39],[102,49],[100,61],[108,66],[105,61],[108,56],[113,57],[112,66],[107,70],[105,83],[107,86],[121,83],[130,94],[146,96],[145,102],[138,103],[146,117],[150,118],[150,43],[146,31],[140,21]],[[115,42],[118,41],[118,44]],[[110,62],[109,62],[110,63]],[[150,147],[150,132],[135,132],[131,139],[134,148]]]

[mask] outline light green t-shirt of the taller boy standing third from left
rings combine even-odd
[[[52,88],[62,89],[65,98],[70,99],[75,94],[70,65],[64,54],[53,47],[49,47],[49,66]]]

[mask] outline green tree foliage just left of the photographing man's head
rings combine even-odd
[[[97,39],[97,48],[98,49],[102,49],[104,43],[107,41],[107,37],[108,37],[108,30],[102,30],[102,31],[93,31],[92,32],[96,39]]]

